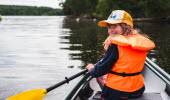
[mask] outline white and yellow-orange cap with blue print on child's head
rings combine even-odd
[[[101,27],[107,27],[107,24],[117,23],[126,23],[133,27],[133,20],[131,15],[124,10],[114,10],[107,20],[100,21],[98,25]]]

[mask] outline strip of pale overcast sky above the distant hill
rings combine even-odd
[[[61,8],[59,3],[65,0],[0,0],[0,5],[26,5]]]

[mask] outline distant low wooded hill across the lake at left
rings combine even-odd
[[[0,5],[1,15],[63,15],[62,9],[49,7]]]

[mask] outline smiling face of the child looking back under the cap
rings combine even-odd
[[[109,36],[115,36],[123,32],[122,27],[119,24],[108,24]]]

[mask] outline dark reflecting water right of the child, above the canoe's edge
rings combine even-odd
[[[136,26],[147,33],[155,42],[154,50],[148,57],[170,74],[170,24],[169,23],[136,23]]]

